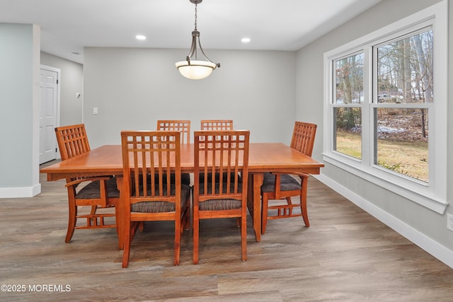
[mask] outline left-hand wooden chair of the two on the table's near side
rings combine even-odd
[[[180,132],[122,131],[125,223],[122,267],[129,265],[130,247],[143,221],[173,221],[173,265],[179,265],[180,238],[190,220],[190,186],[181,183]],[[166,175],[175,175],[174,182]]]

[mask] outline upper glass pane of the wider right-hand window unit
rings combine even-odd
[[[377,49],[377,102],[432,102],[432,30]]]

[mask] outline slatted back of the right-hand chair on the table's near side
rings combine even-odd
[[[199,202],[246,198],[247,192],[242,188],[248,181],[249,136],[250,132],[246,130],[194,133],[193,190]],[[241,175],[242,182],[237,175]]]

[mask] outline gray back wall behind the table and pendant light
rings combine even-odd
[[[289,144],[296,117],[296,52],[205,50],[221,67],[207,79],[179,74],[187,50],[84,50],[84,123],[90,145],[120,144],[123,129],[156,129],[156,120],[232,119],[251,141]],[[98,115],[93,115],[93,108]]]

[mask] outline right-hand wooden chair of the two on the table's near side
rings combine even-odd
[[[250,132],[194,133],[193,263],[198,263],[200,220],[236,218],[241,228],[241,258],[247,260],[247,183]],[[239,181],[239,175],[243,181]]]

